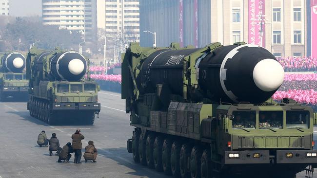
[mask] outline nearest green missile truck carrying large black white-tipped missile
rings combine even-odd
[[[122,99],[135,126],[128,152],[182,178],[294,178],[311,171],[313,110],[270,99],[283,78],[274,55],[257,45],[131,43],[122,61]]]

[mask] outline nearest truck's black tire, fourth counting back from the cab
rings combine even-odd
[[[171,148],[171,170],[174,178],[180,178],[179,170],[179,153],[181,144],[177,141],[173,142]]]

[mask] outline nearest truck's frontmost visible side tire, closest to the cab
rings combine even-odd
[[[200,177],[201,178],[212,178],[212,167],[211,167],[211,160],[210,160],[210,150],[205,149],[202,152],[201,159],[200,159]]]

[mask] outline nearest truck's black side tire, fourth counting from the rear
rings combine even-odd
[[[154,140],[153,144],[153,162],[155,170],[158,172],[163,171],[162,167],[162,147],[163,147],[163,138],[158,136]]]

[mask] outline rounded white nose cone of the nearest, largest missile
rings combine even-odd
[[[253,80],[263,91],[278,89],[284,80],[284,69],[274,59],[263,59],[253,70]]]

